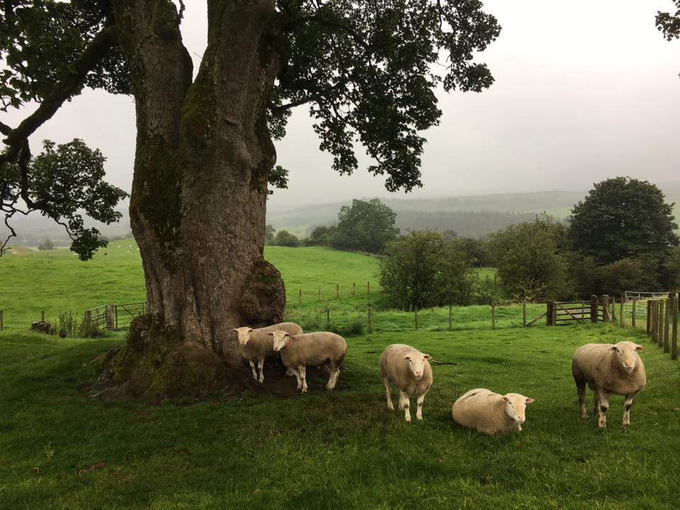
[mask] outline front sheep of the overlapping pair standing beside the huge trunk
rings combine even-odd
[[[306,334],[289,334],[274,331],[274,351],[280,351],[281,361],[292,368],[297,378],[297,389],[307,392],[307,365],[326,365],[330,373],[326,385],[333,390],[340,376],[340,365],[347,353],[345,339],[329,331],[316,331]]]

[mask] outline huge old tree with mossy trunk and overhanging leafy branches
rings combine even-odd
[[[0,4],[3,105],[40,105],[0,126],[4,173],[28,173],[28,137],[85,86],[135,98],[130,221],[148,313],[116,355],[112,391],[148,399],[222,387],[242,366],[232,328],[283,317],[283,282],[262,253],[268,183],[285,185],[272,139],[292,108],[310,108],[336,171],[357,169],[361,142],[368,171],[409,191],[421,185],[419,132],[441,116],[436,88],[490,86],[472,57],[500,30],[480,0],[208,0],[193,78],[178,2]]]

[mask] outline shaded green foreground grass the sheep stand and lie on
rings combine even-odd
[[[632,426],[611,398],[609,428],[579,418],[574,349],[647,346]],[[394,342],[435,360],[422,422],[385,408],[378,358]],[[338,391],[245,393],[190,406],[102,403],[77,389],[115,344],[0,334],[2,509],[675,509],[680,365],[640,334],[604,325],[380,333],[348,340]],[[290,384],[294,382],[291,380]],[[472,387],[536,402],[524,431],[453,424]],[[589,403],[590,395],[589,395]],[[84,468],[101,461],[90,472]],[[80,473],[80,474],[79,474]]]

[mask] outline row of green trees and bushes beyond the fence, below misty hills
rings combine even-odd
[[[608,179],[574,205],[568,224],[533,215],[485,239],[460,236],[455,223],[442,223],[440,232],[413,229],[399,235],[395,217],[378,199],[353,200],[341,208],[337,225],[316,227],[304,239],[285,231],[274,234],[268,227],[268,239],[284,246],[325,245],[382,254],[380,283],[401,308],[619,296],[625,290],[680,287],[672,204],[647,181]],[[499,280],[477,278],[473,268],[480,266],[496,267]]]

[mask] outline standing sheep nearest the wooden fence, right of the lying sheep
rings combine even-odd
[[[645,364],[638,351],[645,348],[630,341],[618,344],[586,344],[577,348],[572,362],[572,374],[579,393],[579,411],[586,412],[586,382],[594,397],[594,413],[599,413],[601,429],[607,426],[609,395],[625,395],[623,426],[630,425],[633,397],[645,386]]]

